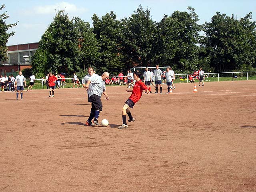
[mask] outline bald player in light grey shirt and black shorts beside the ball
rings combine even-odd
[[[109,100],[108,94],[106,93],[105,80],[109,77],[108,72],[104,72],[102,76],[98,76],[97,74],[91,76],[85,85],[86,90],[89,89],[90,83],[92,87],[89,90],[89,99],[92,103],[92,108],[90,112],[90,116],[88,120],[85,122],[86,126],[94,126],[94,124],[99,125],[98,117],[100,111],[102,111],[102,102],[100,100],[102,93],[105,95],[106,99]],[[92,119],[94,118],[94,124],[92,123]]]

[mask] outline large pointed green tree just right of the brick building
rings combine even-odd
[[[39,42],[39,50],[36,52],[36,54],[48,54],[44,73],[52,71],[72,74],[83,68],[78,58],[78,38],[68,15],[63,11],[58,12],[54,21],[44,32]],[[32,61],[32,67],[36,72],[40,70],[41,64],[36,63],[36,60]]]

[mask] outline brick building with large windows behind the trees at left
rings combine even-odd
[[[9,75],[10,73],[18,72],[25,68],[31,68],[31,56],[34,56],[38,49],[38,44],[37,42],[7,46],[8,51],[5,54],[8,60],[0,60],[0,74]],[[29,56],[27,61],[25,61],[24,56]]]

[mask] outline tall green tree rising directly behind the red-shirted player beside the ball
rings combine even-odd
[[[122,20],[122,51],[126,56],[126,68],[150,66],[152,44],[156,25],[150,18],[150,10],[138,6],[136,13]]]

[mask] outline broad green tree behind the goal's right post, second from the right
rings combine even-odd
[[[172,16],[164,16],[157,24],[154,47],[154,61],[172,66],[176,71],[190,72],[197,68],[199,53],[198,15],[194,8],[188,12],[175,11]]]

